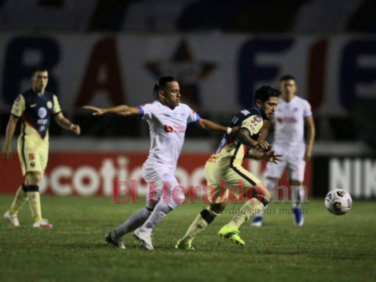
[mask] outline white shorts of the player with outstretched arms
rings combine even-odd
[[[146,207],[153,210],[163,200],[172,209],[184,202],[185,196],[174,176],[174,171],[165,164],[147,160],[142,167],[147,185]]]

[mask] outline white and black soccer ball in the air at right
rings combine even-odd
[[[340,216],[347,213],[352,206],[350,194],[343,189],[334,189],[325,197],[325,207],[332,214]]]

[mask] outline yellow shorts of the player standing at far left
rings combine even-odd
[[[48,161],[49,143],[39,136],[20,136],[17,151],[21,162],[22,175],[28,172],[44,173]]]

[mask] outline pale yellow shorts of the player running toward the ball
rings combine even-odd
[[[242,195],[246,195],[248,188],[252,188],[261,182],[256,176],[244,169],[241,164],[234,164],[232,167],[228,164],[221,167],[220,164],[212,161],[207,161],[205,164],[205,177],[208,185],[214,188],[215,202],[222,202],[227,197],[239,199],[240,192],[242,192]],[[224,186],[222,191],[221,186]],[[232,190],[231,193],[229,193],[230,189]]]

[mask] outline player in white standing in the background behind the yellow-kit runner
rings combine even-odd
[[[267,163],[265,186],[273,195],[278,179],[285,167],[288,168],[291,194],[293,200],[294,223],[303,225],[301,203],[305,196],[303,187],[306,161],[311,158],[312,146],[315,139],[315,125],[312,118],[311,106],[308,101],[296,96],[296,80],[291,75],[280,78],[278,107],[274,113],[274,141],[272,150],[283,155],[279,163]],[[261,130],[260,140],[265,140],[270,127],[270,121],[265,121]],[[304,127],[307,131],[307,142],[304,143]],[[262,212],[252,222],[253,226],[262,225]]]

